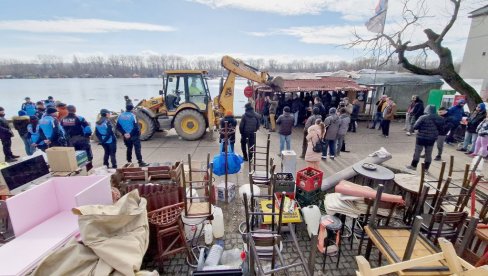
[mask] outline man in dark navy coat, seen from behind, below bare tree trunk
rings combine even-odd
[[[420,154],[425,148],[425,170],[428,171],[430,164],[432,163],[432,150],[434,149],[434,143],[439,136],[439,131],[442,130],[444,121],[437,115],[435,106],[428,105],[425,108],[425,115],[415,122],[413,127],[417,130],[417,139],[415,142],[415,152],[413,154],[412,162],[407,169],[416,170],[420,160]]]

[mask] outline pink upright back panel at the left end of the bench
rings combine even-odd
[[[56,187],[50,179],[8,198],[7,208],[15,236],[18,237],[59,212]]]

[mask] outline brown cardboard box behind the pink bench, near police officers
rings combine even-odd
[[[73,172],[78,169],[75,148],[73,147],[48,148],[46,154],[52,172]]]

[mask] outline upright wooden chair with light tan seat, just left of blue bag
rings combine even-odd
[[[210,155],[208,155],[207,160],[210,160]],[[185,191],[185,217],[187,218],[204,218],[209,217],[212,214],[212,182],[213,182],[213,175],[212,169],[213,164],[207,163],[206,169],[193,169],[191,166],[191,155],[188,154],[188,166],[189,166],[189,180],[185,179],[185,172],[182,171],[182,181],[183,181],[183,190]],[[193,173],[208,173],[207,179],[202,180],[192,180]],[[197,184],[197,185],[195,185]],[[186,192],[188,188],[188,193]],[[193,195],[193,190],[203,190],[203,195],[199,196],[198,194]]]

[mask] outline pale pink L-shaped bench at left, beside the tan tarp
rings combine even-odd
[[[15,239],[0,247],[0,275],[25,275],[75,236],[71,209],[112,204],[108,176],[57,177],[6,200]]]

